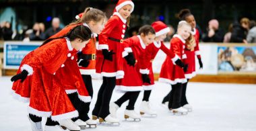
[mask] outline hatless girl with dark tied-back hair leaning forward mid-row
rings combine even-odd
[[[139,92],[143,89],[143,81],[139,69],[141,66],[141,60],[143,60],[143,54],[146,51],[146,46],[152,43],[155,38],[155,31],[152,26],[146,25],[139,29],[139,35],[133,36],[124,40],[124,44],[129,46],[135,56],[135,67],[124,62],[123,68],[125,76],[123,79],[117,80],[117,91],[125,92],[125,94],[117,99],[117,101],[110,103],[110,114],[117,118],[116,112],[121,105],[129,100],[129,104],[125,110],[125,119],[132,118],[135,121],[140,121],[140,114],[137,114],[134,110],[134,105],[139,96]],[[129,52],[130,53],[130,52]]]

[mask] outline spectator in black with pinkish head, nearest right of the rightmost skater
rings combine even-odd
[[[224,33],[219,28],[217,19],[212,19],[208,23],[207,34],[203,37],[203,42],[223,42]]]

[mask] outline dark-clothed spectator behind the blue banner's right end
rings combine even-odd
[[[35,23],[33,26],[33,32],[29,35],[30,41],[33,40],[44,40],[42,31],[40,30],[39,23]]]

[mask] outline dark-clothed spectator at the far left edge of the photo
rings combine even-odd
[[[11,30],[11,23],[9,21],[4,21],[1,24],[1,34],[3,36],[3,40],[11,40],[11,35],[13,31]]]

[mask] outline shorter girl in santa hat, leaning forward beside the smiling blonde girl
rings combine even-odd
[[[152,70],[152,62],[156,57],[156,54],[159,50],[162,50],[165,54],[167,54],[168,58],[179,67],[183,68],[184,64],[181,61],[181,58],[170,51],[166,46],[164,46],[163,40],[166,38],[166,34],[170,32],[170,28],[166,26],[162,21],[155,21],[151,25],[156,31],[156,38],[152,44],[146,47],[145,56],[143,58],[143,62],[141,62],[141,69],[139,72],[142,74],[143,79],[143,99],[141,103],[141,114],[148,114],[150,116],[156,116],[156,112],[154,112],[150,107],[150,94],[152,89],[154,89],[154,73]]]

